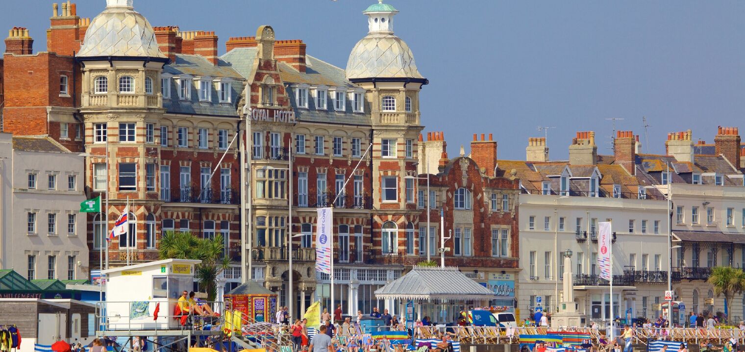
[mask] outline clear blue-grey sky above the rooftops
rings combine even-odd
[[[367,34],[375,0],[135,0],[152,25],[228,37],[272,25],[280,40],[302,39],[308,54],[344,68]],[[5,29],[31,30],[45,48],[52,0],[2,0]],[[524,160],[530,136],[548,132],[551,159],[565,159],[576,131],[595,131],[612,154],[616,128],[633,130],[662,153],[667,133],[693,130],[714,142],[717,125],[742,127],[745,112],[745,1],[386,0],[400,13],[396,35],[430,80],[421,94],[425,131],[445,131],[448,152],[469,152],[472,133],[494,133],[501,159]],[[95,16],[104,0],[78,0]],[[739,124],[739,125],[738,125]]]

